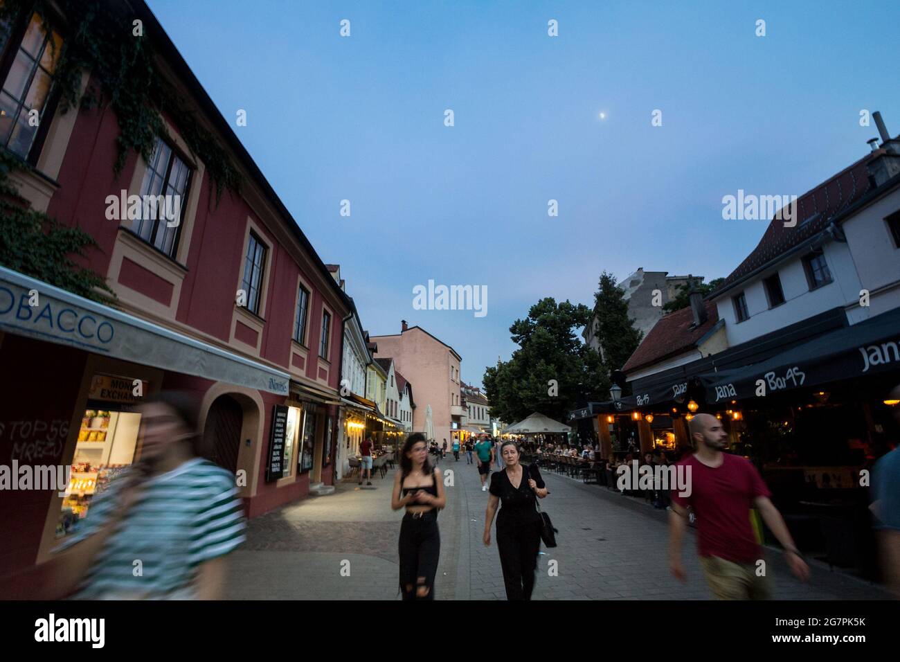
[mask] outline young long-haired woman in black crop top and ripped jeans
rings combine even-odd
[[[391,507],[406,508],[400,527],[400,590],[404,600],[434,600],[441,536],[437,511],[446,505],[441,470],[428,462],[428,441],[410,434],[394,478]]]

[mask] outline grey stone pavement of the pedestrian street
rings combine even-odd
[[[482,542],[488,494],[477,469],[452,455],[453,471],[440,513],[438,600],[505,600],[496,536]],[[338,485],[249,522],[247,544],[229,557],[228,599],[399,599],[397,540],[402,512],[391,510],[393,473],[372,487]],[[703,579],[693,531],[685,541],[687,585],[669,574],[667,513],[597,485],[545,474],[551,494],[542,507],[560,530],[559,547],[538,560],[536,600],[697,600],[711,596]],[[873,599],[877,585],[812,567],[808,584],[792,576],[778,551],[767,552],[777,600]],[[550,561],[555,561],[551,564]],[[551,576],[551,567],[558,574]],[[344,574],[342,575],[342,568]],[[349,576],[347,575],[349,569]]]

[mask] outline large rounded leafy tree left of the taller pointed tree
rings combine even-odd
[[[565,421],[582,396],[599,396],[596,375],[599,357],[585,348],[575,334],[588,323],[590,309],[569,301],[557,304],[553,297],[531,306],[524,320],[509,327],[519,349],[509,361],[498,360],[484,371],[485,393],[491,414],[505,422],[517,422],[533,412]],[[608,390],[608,388],[607,388]]]

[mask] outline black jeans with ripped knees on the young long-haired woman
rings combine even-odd
[[[400,590],[404,600],[434,600],[441,534],[437,512],[407,512],[400,527]]]

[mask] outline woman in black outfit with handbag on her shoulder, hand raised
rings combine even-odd
[[[519,464],[519,450],[514,441],[504,441],[500,455],[506,468],[491,474],[491,498],[484,515],[484,544],[491,546],[491,522],[498,503],[502,502],[497,516],[497,548],[507,600],[531,600],[543,526],[536,510],[536,497],[543,499],[549,493],[535,465],[527,472]]]

